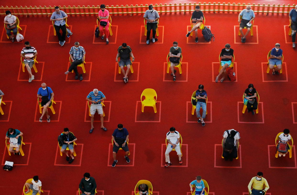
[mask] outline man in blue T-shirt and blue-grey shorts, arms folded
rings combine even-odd
[[[282,69],[282,49],[279,49],[280,44],[276,43],[275,47],[271,49],[269,59],[269,69],[272,70],[272,74],[279,74],[279,70]],[[276,65],[276,67],[274,67]]]

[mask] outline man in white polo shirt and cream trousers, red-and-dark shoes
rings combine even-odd
[[[180,136],[179,136],[179,132],[175,130],[174,127],[170,127],[169,132],[166,133],[166,139],[168,142],[166,151],[165,151],[165,162],[166,164],[164,165],[164,167],[168,167],[172,164],[172,162],[170,162],[169,159],[169,153],[175,149],[176,154],[178,155],[178,160],[179,160],[179,164],[182,164],[183,161],[181,160],[181,148],[179,146],[179,140],[180,140]]]

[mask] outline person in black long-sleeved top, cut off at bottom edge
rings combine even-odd
[[[83,174],[83,178],[80,180],[79,189],[86,195],[95,195],[97,188],[96,181],[90,176],[90,173]]]

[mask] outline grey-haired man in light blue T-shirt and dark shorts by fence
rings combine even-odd
[[[242,16],[242,19],[240,21],[240,16]],[[245,42],[246,36],[249,34],[249,31],[251,30],[251,23],[252,20],[255,19],[255,14],[254,11],[251,9],[250,5],[247,5],[247,9],[243,9],[239,14],[238,14],[238,22],[239,24],[239,31],[242,35],[241,37],[241,43]],[[245,35],[243,34],[242,29],[244,27],[247,27],[247,33]]]

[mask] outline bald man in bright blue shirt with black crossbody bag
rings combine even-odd
[[[41,84],[38,89],[37,97],[41,98],[41,106],[43,107],[42,114],[39,118],[39,122],[42,122],[42,117],[46,114],[47,122],[50,122],[50,116],[48,115],[48,107],[51,105],[54,93],[50,87],[47,87],[45,83]]]

